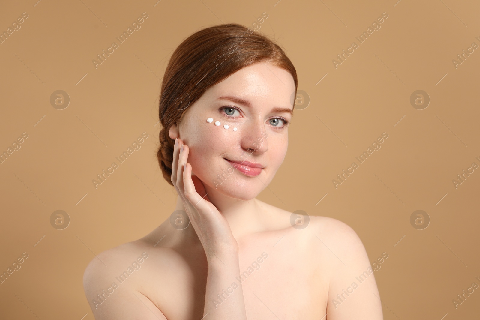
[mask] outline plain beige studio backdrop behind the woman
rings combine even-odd
[[[0,284],[1,318],[94,319],[87,263],[175,206],[155,156],[172,51],[206,26],[252,26],[266,12],[260,32],[286,49],[311,102],[295,111],[284,164],[258,198],[347,223],[371,261],[387,252],[374,273],[384,319],[478,319],[480,289],[458,308],[452,299],[480,285],[480,169],[458,188],[452,180],[480,165],[480,49],[457,68],[452,59],[480,45],[479,10],[453,0],[5,1],[0,31],[28,18],[0,44],[0,151],[28,138],[0,164],[0,271],[29,256]],[[141,29],[96,69],[92,59],[142,12]],[[381,29],[335,68],[383,12]],[[420,89],[431,98],[423,110],[409,102]],[[50,104],[56,90],[70,96],[63,110]],[[141,149],[95,189],[92,179],[144,131]],[[336,189],[336,175],[382,132],[381,149]],[[63,230],[50,225],[56,210],[71,218]],[[430,216],[423,230],[410,225],[416,210]]]

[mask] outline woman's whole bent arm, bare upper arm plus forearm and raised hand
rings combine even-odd
[[[186,145],[184,148],[181,147],[183,142],[180,139],[177,141],[180,143],[175,143],[174,147],[171,180],[203,244],[208,263],[202,319],[246,320],[243,291],[240,281],[237,280],[237,277],[240,278],[238,243],[225,217],[209,201],[200,179],[194,177],[195,182],[192,180],[192,166],[186,163],[190,149]],[[166,320],[167,318],[147,296],[137,290],[137,287],[130,285],[132,282],[121,284],[119,289],[107,289],[111,286],[110,283],[106,283],[107,279],[112,279],[112,274],[116,273],[109,271],[102,261],[108,261],[107,265],[110,266],[116,265],[117,258],[112,258],[115,255],[111,253],[112,250],[100,254],[84,273],[85,295],[95,318]],[[112,294],[108,295],[108,291]]]

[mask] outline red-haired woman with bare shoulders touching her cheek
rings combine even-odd
[[[373,274],[356,280],[371,267],[348,225],[255,199],[287,153],[296,92],[284,51],[240,24],[180,44],[161,88],[157,153],[177,205],[90,262],[97,320],[383,319]]]

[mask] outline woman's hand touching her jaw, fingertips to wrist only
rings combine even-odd
[[[190,148],[180,138],[175,139],[171,181],[204,246],[207,259],[238,254],[238,243],[227,219],[209,201],[202,181],[192,177],[192,166],[187,163],[189,152]]]

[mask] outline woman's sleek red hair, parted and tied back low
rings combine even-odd
[[[171,182],[173,145],[168,131],[204,92],[252,63],[266,61],[289,71],[295,82],[297,71],[272,40],[241,24],[218,24],[195,32],[173,52],[160,91],[159,119],[162,124],[157,151],[163,177]]]

